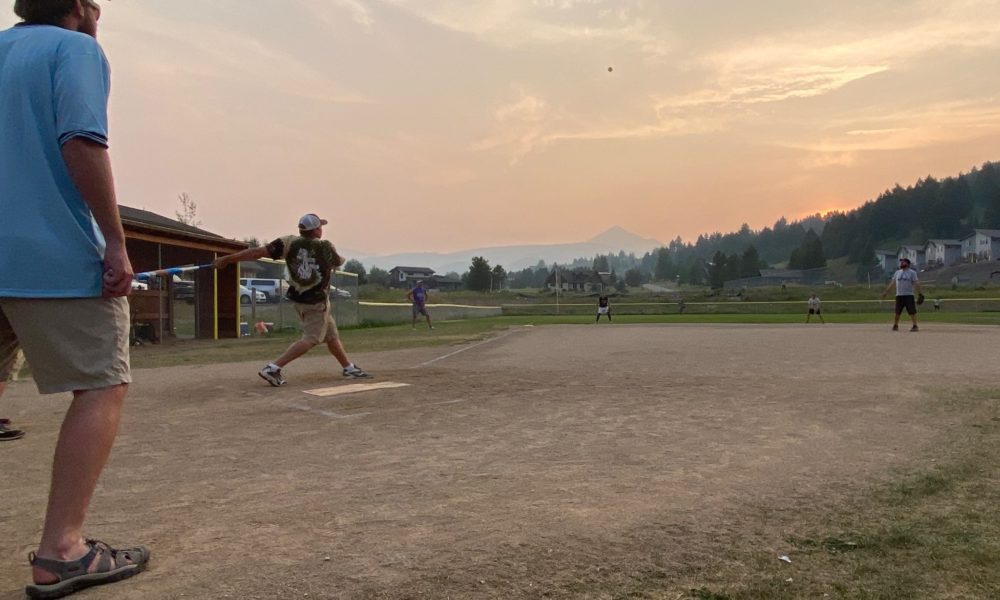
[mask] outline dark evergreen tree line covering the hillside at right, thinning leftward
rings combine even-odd
[[[861,280],[877,264],[879,247],[894,249],[928,239],[957,238],[974,228],[1000,228],[1000,163],[984,163],[943,180],[927,177],[907,188],[897,184],[851,211],[815,214],[794,222],[782,217],[757,231],[744,224],[731,233],[699,235],[693,243],[678,237],[641,257],[619,252],[581,257],[563,266],[612,273],[623,286],[662,281],[722,287],[730,279],[759,276],[760,269],[769,264],[787,262],[790,269],[814,269],[826,266],[829,259],[846,257],[849,264],[858,265]],[[539,261],[534,267],[507,273],[476,257],[462,280],[468,289],[484,291],[498,289],[497,282],[503,281],[513,288],[542,288],[551,270]],[[378,271],[379,278],[373,268],[368,280],[379,282],[384,271]]]

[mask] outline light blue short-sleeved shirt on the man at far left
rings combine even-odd
[[[51,25],[0,31],[0,296],[101,295],[104,237],[61,148],[108,143],[111,73],[97,40]]]

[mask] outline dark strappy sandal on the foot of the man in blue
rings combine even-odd
[[[116,549],[98,540],[87,540],[90,550],[77,560],[41,558],[34,552],[28,554],[31,566],[38,567],[59,578],[56,583],[35,583],[24,588],[29,598],[62,598],[84,588],[114,583],[138,575],[149,562],[149,549],[145,546]],[[88,573],[97,561],[97,568]]]

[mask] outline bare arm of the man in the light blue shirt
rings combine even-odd
[[[107,244],[102,280],[104,296],[127,296],[132,290],[135,273],[125,249],[125,230],[118,214],[108,149],[87,138],[75,137],[63,144],[62,157]]]

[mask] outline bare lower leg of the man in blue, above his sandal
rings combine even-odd
[[[97,479],[118,435],[128,384],[73,392],[52,461],[52,486],[38,556],[76,560],[87,553],[83,521]],[[55,581],[47,571],[32,568],[35,583]]]

